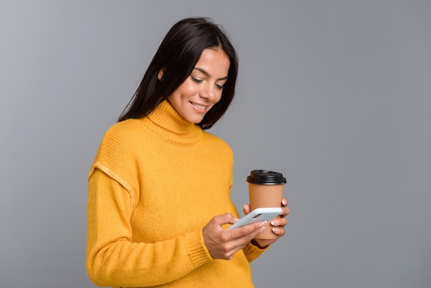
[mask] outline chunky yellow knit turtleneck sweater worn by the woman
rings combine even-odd
[[[202,228],[238,212],[227,143],[163,101],[106,132],[88,176],[87,272],[99,286],[253,287],[249,244],[213,260]]]

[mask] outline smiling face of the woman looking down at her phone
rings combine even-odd
[[[223,50],[204,49],[190,76],[167,99],[187,121],[200,123],[222,98],[229,65],[229,57]]]

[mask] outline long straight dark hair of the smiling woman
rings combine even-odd
[[[187,79],[206,48],[221,49],[230,60],[222,98],[197,124],[202,130],[211,128],[226,112],[235,94],[238,56],[220,26],[208,18],[187,18],[172,26],[118,122],[151,113]],[[161,81],[158,79],[160,69],[164,69]]]

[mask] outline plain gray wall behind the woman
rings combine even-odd
[[[167,30],[222,24],[238,94],[211,132],[288,179],[256,287],[431,287],[430,1],[1,1],[0,286],[94,287],[87,172]],[[270,283],[270,284],[268,284]]]

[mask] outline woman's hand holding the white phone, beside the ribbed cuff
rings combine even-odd
[[[204,245],[213,259],[230,260],[236,251],[242,249],[257,235],[261,234],[265,221],[244,225],[236,229],[223,229],[224,224],[233,224],[238,218],[226,213],[213,217],[204,229],[202,235]]]

